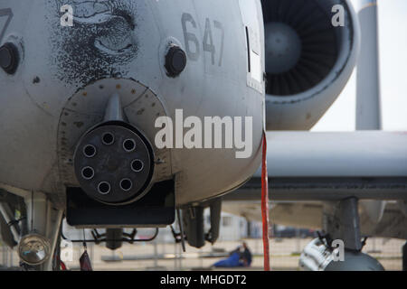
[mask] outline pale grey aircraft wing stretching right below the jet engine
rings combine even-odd
[[[270,200],[407,200],[407,133],[269,132]],[[260,200],[260,169],[223,200]]]

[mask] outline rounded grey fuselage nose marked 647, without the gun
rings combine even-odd
[[[62,25],[62,5],[73,8],[73,26]],[[174,178],[178,205],[240,186],[260,165],[261,19],[254,0],[2,1],[0,44],[13,43],[19,62],[14,74],[0,70],[0,188],[42,191],[63,206],[65,188],[79,186],[75,146],[113,93],[153,144],[152,182]],[[165,68],[170,45],[187,56],[175,78]],[[249,66],[253,53],[260,66]],[[175,120],[175,109],[203,122],[252,117],[250,157],[236,158],[237,148],[156,148],[156,117]]]

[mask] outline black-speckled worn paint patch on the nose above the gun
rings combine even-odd
[[[133,1],[74,2],[73,25],[51,25],[56,77],[70,84],[85,84],[126,75],[126,66],[137,57],[137,7]],[[58,17],[54,17],[58,19]]]

